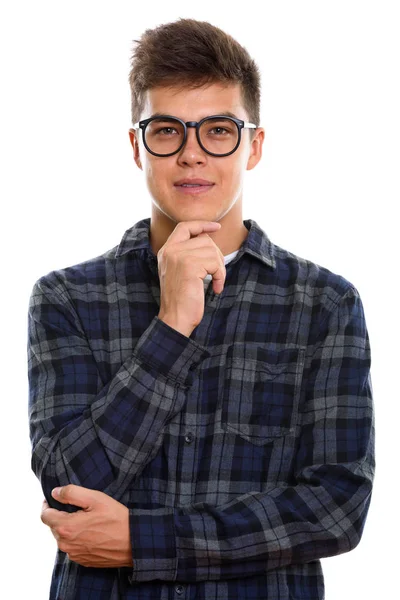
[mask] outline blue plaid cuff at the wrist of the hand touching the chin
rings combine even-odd
[[[194,340],[154,317],[139,339],[134,355],[157,373],[173,378],[185,386],[193,382],[193,371],[211,355]]]

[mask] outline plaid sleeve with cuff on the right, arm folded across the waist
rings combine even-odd
[[[375,462],[369,339],[353,287],[311,352],[292,485],[220,506],[131,509],[131,582],[246,577],[358,544]]]

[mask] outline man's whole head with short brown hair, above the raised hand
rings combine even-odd
[[[129,81],[133,125],[156,114],[174,116],[186,123],[230,113],[245,122],[244,128],[230,123],[229,135],[240,135],[241,141],[235,152],[225,156],[206,151],[206,147],[215,150],[218,143],[222,146],[221,135],[228,133],[219,121],[215,121],[215,130],[202,128],[199,138],[195,127],[187,127],[186,143],[169,156],[149,152],[143,133],[149,142],[151,125],[164,144],[167,137],[183,141],[182,125],[177,123],[178,127],[172,129],[169,123],[158,121],[146,126],[145,132],[143,123],[135,131],[130,130],[135,162],[144,170],[153,198],[152,223],[158,221],[172,231],[182,220],[224,219],[230,229],[243,229],[244,172],[260,160],[264,139],[263,129],[258,128],[260,75],[247,50],[208,22],[180,19],[145,31],[132,55]],[[257,128],[248,128],[249,124]],[[218,142],[212,144],[208,133],[215,139],[219,137]],[[173,141],[168,148],[171,144],[173,149],[179,146]],[[222,147],[225,145],[229,150],[229,143],[224,142]],[[156,153],[159,147],[155,146]],[[194,178],[213,185],[200,193],[177,185],[182,179]]]

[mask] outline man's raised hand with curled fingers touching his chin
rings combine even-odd
[[[204,315],[204,283],[208,273],[216,294],[224,289],[224,256],[208,233],[214,221],[181,221],[157,253],[160,277],[158,318],[189,337]]]

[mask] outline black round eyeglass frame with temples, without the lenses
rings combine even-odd
[[[145,135],[146,127],[152,121],[156,121],[156,120],[160,120],[160,119],[165,119],[165,120],[173,119],[174,121],[178,121],[179,123],[181,123],[183,125],[182,143],[177,150],[175,150],[174,152],[170,152],[169,154],[158,154],[157,152],[153,152],[152,150],[150,150],[150,148],[148,147],[147,142],[146,142],[146,135]],[[225,154],[215,154],[214,152],[210,152],[209,150],[207,150],[201,143],[200,133],[199,133],[200,127],[204,123],[204,121],[208,121],[208,120],[212,120],[212,119],[214,119],[214,120],[227,119],[227,120],[235,123],[235,125],[238,129],[238,141],[237,141],[237,144],[234,147],[234,149],[231,150],[230,152],[226,152]],[[196,138],[197,138],[200,148],[202,148],[202,150],[204,150],[204,152],[206,152],[207,154],[210,154],[211,156],[217,156],[217,157],[229,156],[230,154],[233,154],[234,152],[236,152],[236,150],[239,148],[239,145],[240,145],[240,142],[242,139],[242,129],[257,129],[257,125],[254,125],[254,123],[247,123],[246,121],[242,121],[241,119],[236,119],[235,117],[228,117],[227,115],[211,115],[210,117],[204,117],[204,119],[201,119],[201,121],[186,121],[186,123],[185,123],[185,121],[182,121],[182,119],[179,119],[178,117],[173,117],[172,115],[158,115],[156,117],[150,117],[148,119],[144,119],[143,121],[138,121],[137,123],[135,123],[133,125],[132,129],[134,129],[134,130],[141,129],[142,130],[143,144],[144,144],[146,150],[148,152],[150,152],[150,154],[153,154],[154,156],[167,157],[167,156],[173,156],[174,154],[177,154],[178,152],[180,152],[182,150],[183,146],[186,144],[188,127],[196,128]]]

